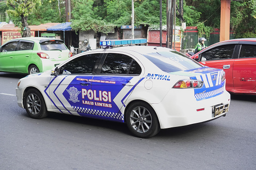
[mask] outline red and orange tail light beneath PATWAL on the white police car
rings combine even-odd
[[[201,80],[180,80],[173,88],[200,88],[203,87],[204,82]]]

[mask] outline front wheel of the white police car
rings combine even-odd
[[[28,115],[34,119],[41,119],[48,115],[42,94],[35,89],[30,89],[24,96],[24,107]]]

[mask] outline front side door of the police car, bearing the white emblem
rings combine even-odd
[[[91,83],[99,57],[100,53],[81,55],[59,68],[49,85],[53,109],[75,115],[92,113]]]

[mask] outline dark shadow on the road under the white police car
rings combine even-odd
[[[24,114],[24,116],[28,117],[27,114]],[[54,120],[53,120],[54,119]],[[106,121],[106,120],[99,120],[99,119],[93,119],[93,118],[87,118],[87,117],[80,117],[80,116],[72,116],[72,115],[66,115],[66,114],[60,114],[55,112],[50,112],[47,118],[41,119],[42,121],[50,122],[54,121],[55,123],[63,123],[63,125],[73,125],[78,124],[78,126],[82,126],[84,129],[104,129],[106,130],[106,133],[112,131],[115,131],[115,134],[117,136],[122,136],[122,134],[126,134],[128,136],[132,136],[129,129],[127,128],[127,125],[125,123],[119,123],[119,122],[112,122],[112,121]],[[213,132],[216,131],[218,133],[217,129],[215,129],[213,126],[214,124],[211,124],[210,122],[206,123],[198,123],[188,126],[182,126],[182,127],[174,127],[174,128],[168,128],[168,129],[161,129],[160,132],[155,136],[151,137],[150,139],[172,139],[172,138],[193,138],[195,135],[207,135],[209,131]]]

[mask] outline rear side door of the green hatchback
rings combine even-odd
[[[14,57],[15,71],[28,72],[28,64],[33,51],[34,42],[31,41],[20,41],[18,44],[18,50]]]

